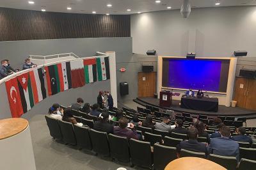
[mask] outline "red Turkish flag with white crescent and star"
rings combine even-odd
[[[13,118],[19,118],[23,114],[22,104],[20,100],[20,91],[18,81],[15,78],[5,82],[6,92],[8,95],[9,105]]]

